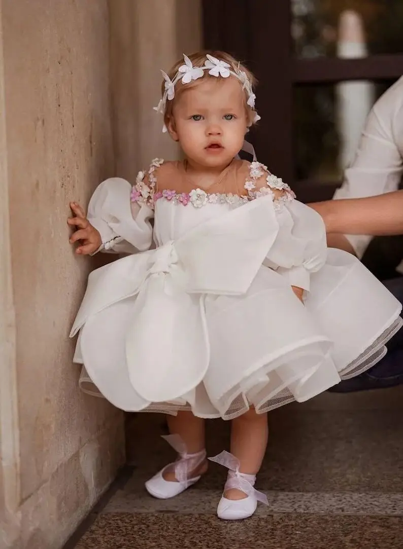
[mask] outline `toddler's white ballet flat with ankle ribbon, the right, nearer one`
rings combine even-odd
[[[258,501],[261,501],[264,505],[269,505],[266,495],[253,488],[256,475],[239,472],[240,463],[238,458],[224,451],[219,453],[218,456],[209,457],[208,459],[229,469],[224,493],[227,490],[235,488],[241,490],[246,495],[243,500],[228,500],[224,497],[223,493],[217,507],[218,518],[223,520],[242,520],[251,517],[255,513]]]

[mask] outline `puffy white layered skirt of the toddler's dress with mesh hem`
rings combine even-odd
[[[81,389],[126,411],[191,410],[233,419],[254,406],[263,413],[311,399],[372,367],[402,324],[400,302],[354,256],[335,249],[312,275],[305,306],[267,267],[245,295],[186,299],[185,308],[168,316],[163,299],[151,307],[161,315],[142,314],[134,374],[126,361],[127,330],[133,316],[146,311],[147,292],[90,316],[74,357],[85,365]],[[195,330],[203,336],[194,337]],[[151,366],[145,367],[147,349]],[[168,372],[167,363],[174,365]],[[184,377],[193,384],[185,386]],[[169,398],[151,400],[163,394]]]

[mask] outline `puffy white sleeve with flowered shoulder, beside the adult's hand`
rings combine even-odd
[[[253,164],[257,163],[251,166]],[[272,194],[279,223],[277,238],[264,264],[284,276],[291,286],[308,292],[311,273],[318,271],[327,259],[322,217],[295,200],[290,187],[272,175],[266,166],[256,166],[255,170],[251,168],[251,175],[253,173],[255,178],[250,178],[249,186],[255,185],[257,195]]]

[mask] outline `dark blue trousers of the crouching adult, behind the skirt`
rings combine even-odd
[[[403,277],[386,281],[385,286],[403,304]],[[403,328],[387,344],[388,352],[367,372],[345,379],[329,389],[332,393],[351,393],[368,389],[384,389],[403,384]]]

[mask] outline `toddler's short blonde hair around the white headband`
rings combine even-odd
[[[240,63],[239,61],[234,59],[232,57],[232,55],[230,55],[227,52],[205,50],[205,51],[192,53],[191,55],[188,55],[187,57],[189,57],[189,59],[192,61],[192,64],[193,64],[194,67],[202,67],[202,66],[205,65],[206,55],[207,54],[212,55],[212,57],[215,57],[215,58],[217,58],[221,61],[225,61],[225,63],[228,63],[231,66],[231,69],[233,69],[233,70],[235,70],[235,69],[238,70],[239,69],[241,71],[244,71],[247,78],[248,78],[248,80],[249,80],[249,82],[251,83],[252,89],[255,89],[255,87],[257,85],[257,80],[256,80],[255,75],[253,75],[253,73],[245,65],[243,65],[242,63]],[[179,67],[181,65],[183,65],[183,63],[184,63],[183,58],[179,59],[179,61],[177,61],[175,63],[175,65],[168,71],[167,74],[168,74],[170,80],[174,79],[176,73],[178,72]],[[216,78],[216,77],[209,75],[208,71],[205,70],[205,71],[203,71],[203,76],[200,79],[192,80],[188,84],[183,84],[181,80],[179,80],[176,83],[176,85],[175,85],[175,97],[174,97],[174,99],[167,101],[167,104],[165,105],[165,111],[164,111],[164,122],[165,122],[165,124],[167,124],[170,117],[172,116],[172,110],[173,110],[173,106],[175,104],[175,100],[178,99],[178,97],[180,96],[181,91],[183,91],[183,89],[190,88],[192,86],[197,86],[197,83],[200,82],[202,79],[205,79],[205,78]],[[164,94],[164,91],[165,91],[165,80],[162,82],[162,85],[161,85],[162,95]],[[245,108],[246,108],[246,112],[247,112],[248,126],[252,126],[252,124],[255,123],[255,110],[253,110],[247,104],[246,93],[245,93]]]

